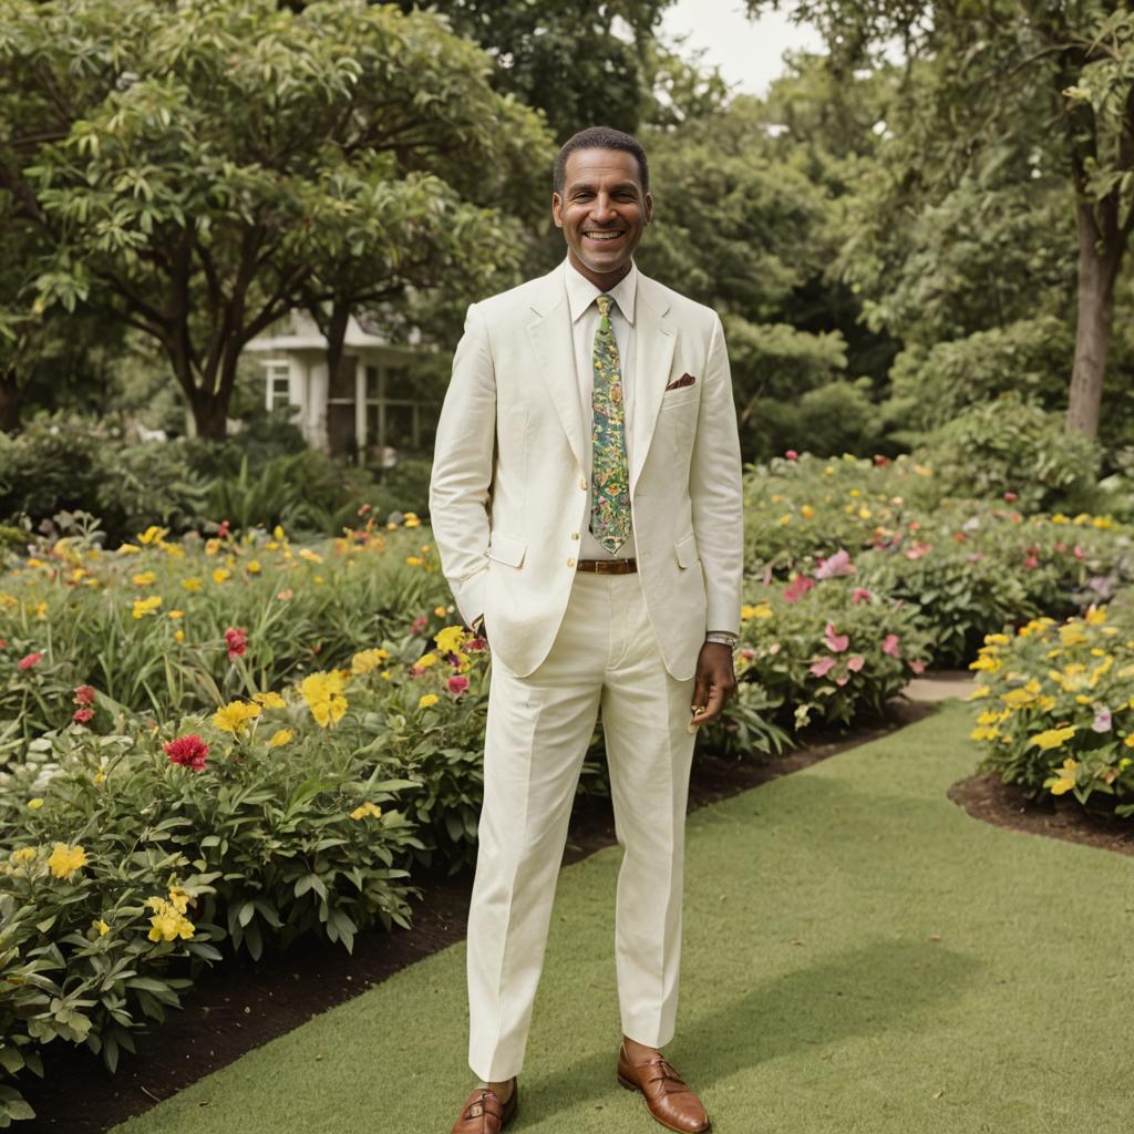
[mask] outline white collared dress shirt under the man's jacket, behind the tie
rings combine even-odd
[[[618,372],[623,384],[623,406],[625,407],[626,462],[631,460],[631,418],[634,413],[634,304],[637,298],[637,266],[631,264],[631,270],[609,291],[603,293],[582,274],[568,260],[565,273],[567,281],[567,302],[570,306],[572,331],[575,342],[575,374],[578,378],[578,396],[583,406],[584,435],[590,442],[594,422],[591,406],[591,395],[594,387],[594,336],[599,330],[601,316],[595,299],[600,295],[609,295],[615,302],[610,308],[610,324],[618,344]],[[590,443],[586,452],[586,514],[583,531],[579,534],[578,555],[581,559],[631,559],[634,557],[634,532],[626,542],[611,555],[590,530],[591,521],[591,473],[593,449]]]

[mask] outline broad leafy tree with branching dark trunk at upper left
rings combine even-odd
[[[0,188],[48,248],[33,305],[155,338],[209,437],[291,307],[515,262],[515,219],[477,196],[550,161],[477,48],[363,0],[0,0],[0,119],[25,124]]]

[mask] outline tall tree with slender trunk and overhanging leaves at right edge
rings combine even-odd
[[[787,7],[748,0],[753,14]],[[1047,116],[1048,156],[1073,191],[1077,230],[1075,354],[1068,429],[1099,425],[1115,287],[1134,228],[1134,15],[1122,0],[799,0],[844,71],[900,44],[903,113],[919,146],[906,176],[956,184],[1022,124]],[[928,66],[920,67],[919,64]]]

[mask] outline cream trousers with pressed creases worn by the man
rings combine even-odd
[[[491,646],[492,625],[488,620]],[[615,966],[623,1032],[674,1034],[693,679],[675,680],[636,574],[577,574],[551,652],[521,678],[492,660],[484,805],[468,915],[468,1061],[523,1066],[572,802],[596,714],[623,847]]]

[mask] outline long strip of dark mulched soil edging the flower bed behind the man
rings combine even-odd
[[[736,760],[699,753],[689,785],[689,810],[866,744],[932,711],[933,705],[925,702],[896,701],[886,721],[848,734],[814,734],[805,747],[778,758]],[[985,798],[992,796],[985,793]],[[991,818],[995,807],[985,811],[973,813],[998,821]],[[1059,837],[1072,837],[1066,833],[1069,830],[1070,826],[1063,828]],[[577,862],[613,843],[609,799],[577,799],[565,863]],[[229,957],[219,967],[204,971],[188,990],[185,1008],[172,1012],[149,1034],[143,1032],[138,1036],[139,1053],[124,1052],[115,1075],[85,1048],[49,1044],[43,1052],[44,1080],[28,1076],[23,1084],[39,1117],[18,1124],[20,1134],[100,1134],[232,1063],[245,1051],[462,940],[472,872],[421,885],[423,897],[414,906],[413,930],[359,933],[353,955],[325,942],[307,941],[259,963],[243,956]]]

